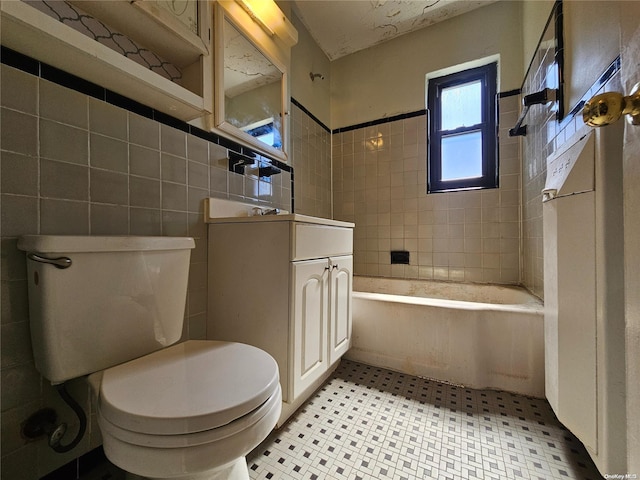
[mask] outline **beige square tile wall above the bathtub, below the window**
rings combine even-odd
[[[517,100],[501,99],[500,125]],[[500,188],[428,195],[426,128],[421,115],[333,135],[334,218],[356,224],[355,273],[519,283],[517,139],[501,129]],[[409,265],[391,265],[391,250]]]

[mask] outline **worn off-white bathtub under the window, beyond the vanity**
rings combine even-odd
[[[346,358],[542,398],[543,321],[519,287],[356,276]]]

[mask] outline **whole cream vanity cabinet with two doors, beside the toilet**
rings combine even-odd
[[[303,215],[210,220],[207,337],[278,362],[278,425],[351,345],[353,224]]]

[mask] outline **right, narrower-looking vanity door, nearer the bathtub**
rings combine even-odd
[[[329,365],[333,365],[351,346],[353,256],[331,257],[329,263]]]

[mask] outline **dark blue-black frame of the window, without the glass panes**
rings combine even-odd
[[[455,130],[442,130],[441,92],[444,88],[480,80],[481,123]],[[427,87],[428,157],[427,193],[480,188],[498,188],[498,101],[497,63],[430,78]],[[482,132],[482,176],[442,180],[442,138],[466,132]]]

